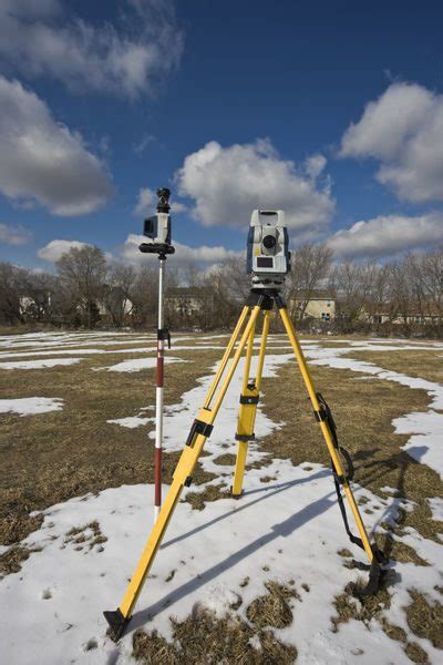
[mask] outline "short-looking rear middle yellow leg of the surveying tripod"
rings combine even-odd
[[[237,433],[238,441],[237,460],[233,482],[233,497],[240,497],[243,491],[243,478],[245,473],[246,456],[248,452],[248,441],[255,438],[254,424],[256,421],[257,405],[260,393],[261,375],[265,362],[266,341],[269,332],[269,311],[265,310],[264,325],[261,331],[260,350],[258,354],[258,365],[255,379],[249,379],[250,361],[254,348],[254,331],[249,337],[248,350],[245,361],[245,375],[240,395],[240,408],[238,411]]]

